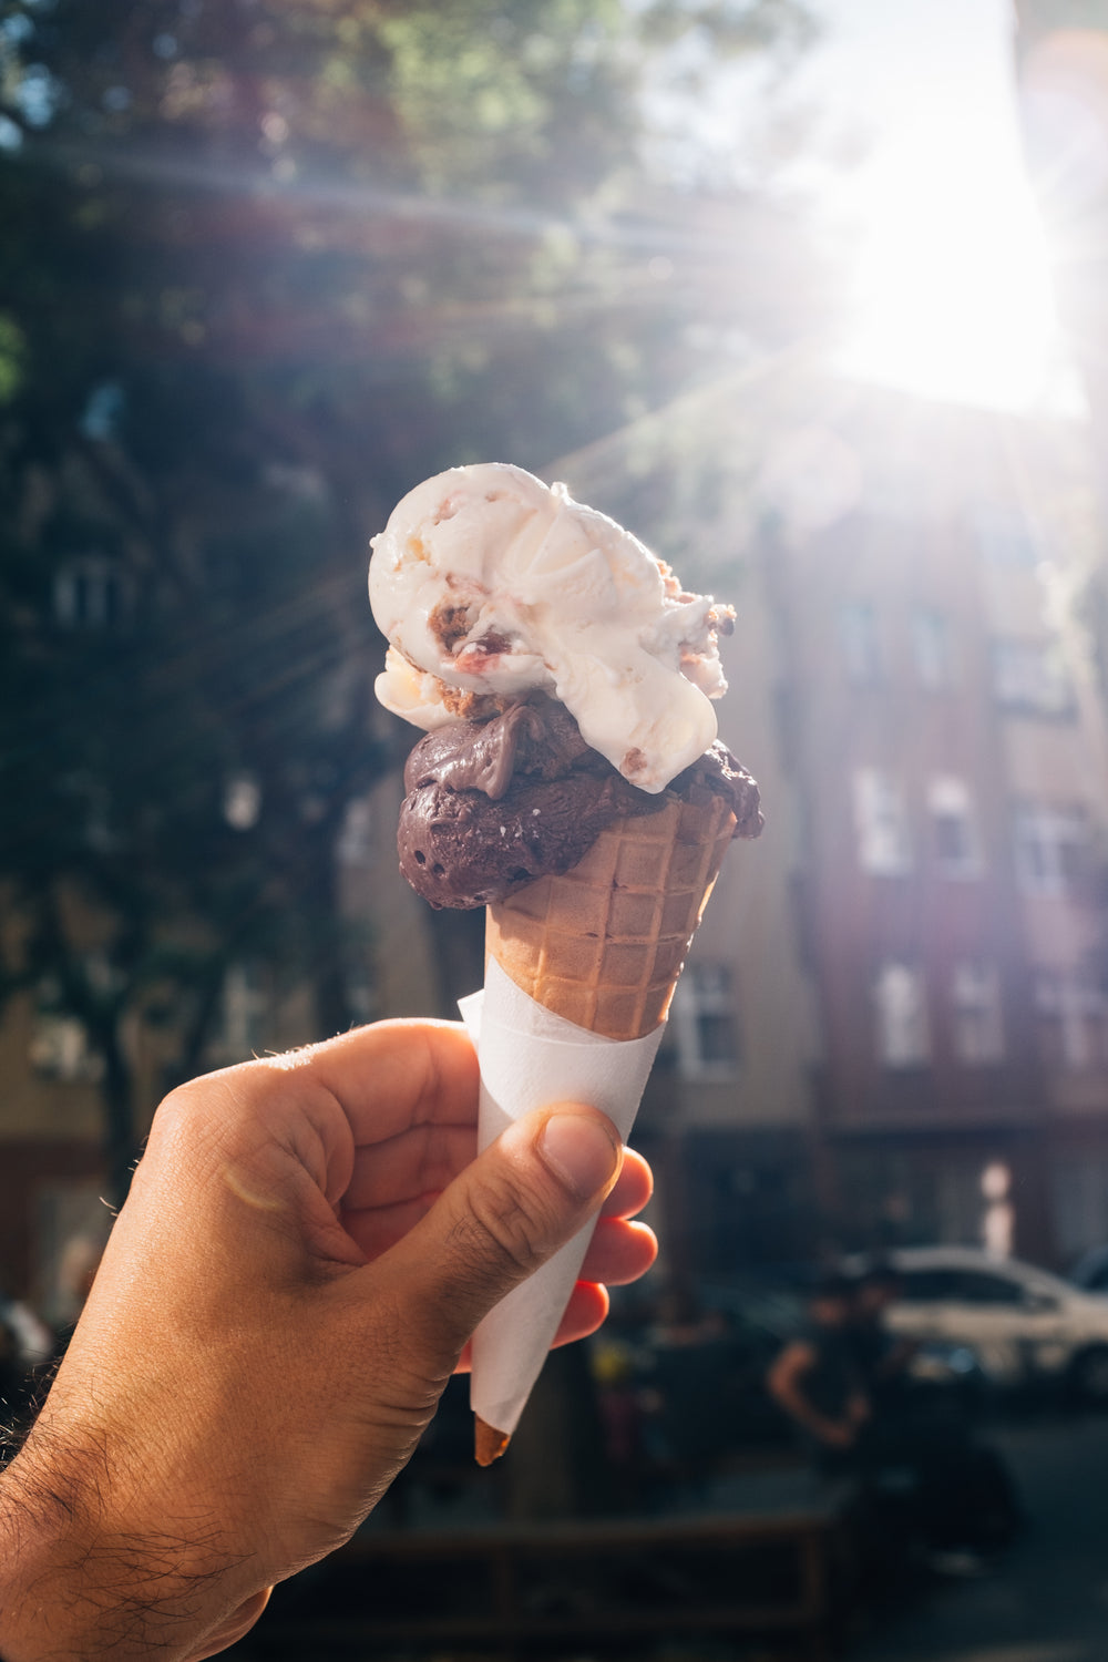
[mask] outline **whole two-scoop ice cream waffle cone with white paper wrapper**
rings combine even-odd
[[[487,907],[485,987],[460,1001],[478,1147],[552,1102],[591,1104],[626,1140],[726,846],[761,829],[711,708],[734,612],[565,485],[498,462],[410,490],[374,537],[369,592],[389,638],[377,698],[425,730],[400,869],[432,906]],[[473,1333],[482,1464],[515,1429],[590,1235]]]

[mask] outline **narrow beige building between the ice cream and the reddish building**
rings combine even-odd
[[[781,1265],[819,1245],[811,1104],[821,1035],[797,927],[774,658],[769,595],[743,585],[738,638],[724,643],[721,738],[759,783],[766,829],[724,859],[640,1112],[663,1271]]]

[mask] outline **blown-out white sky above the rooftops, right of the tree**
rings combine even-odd
[[[791,96],[860,156],[816,183],[846,229],[842,366],[915,392],[1078,412],[1023,173],[1010,0],[812,0]]]

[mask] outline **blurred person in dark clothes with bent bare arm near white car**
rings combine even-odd
[[[857,1468],[870,1401],[852,1343],[854,1288],[824,1273],[807,1300],[807,1326],[777,1353],[766,1386],[801,1429],[816,1468],[842,1476]]]

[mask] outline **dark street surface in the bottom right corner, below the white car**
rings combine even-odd
[[[987,1576],[939,1584],[849,1649],[849,1662],[1105,1662],[1108,1657],[1108,1419],[1068,1418],[992,1434],[1028,1527]]]

